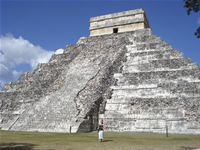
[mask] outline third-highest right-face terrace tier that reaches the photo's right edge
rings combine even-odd
[[[170,95],[171,96],[171,95]],[[108,99],[106,106],[117,107],[119,110],[133,110],[138,109],[143,112],[143,110],[167,108],[167,107],[179,107],[180,109],[187,110],[185,112],[187,116],[192,117],[194,112],[198,112],[200,103],[198,102],[200,94],[198,96],[187,96],[181,97],[177,95],[176,97],[124,97],[113,96],[112,99]],[[185,105],[182,105],[185,104]],[[106,109],[105,110],[109,110]],[[118,109],[117,109],[118,110]],[[193,116],[194,117],[194,116]]]

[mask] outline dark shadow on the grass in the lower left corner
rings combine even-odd
[[[1,143],[1,150],[33,150],[34,144],[29,143]]]

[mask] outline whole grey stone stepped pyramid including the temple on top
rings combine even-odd
[[[90,18],[90,36],[0,92],[2,130],[200,134],[200,69],[143,9]]]

